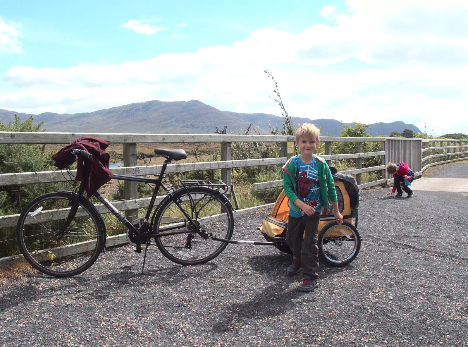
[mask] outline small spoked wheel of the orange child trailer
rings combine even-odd
[[[332,221],[319,233],[319,256],[331,266],[345,266],[356,258],[361,249],[361,236],[350,222],[338,224]]]

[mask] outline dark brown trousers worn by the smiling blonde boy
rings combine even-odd
[[[311,216],[306,214],[300,218],[288,217],[286,243],[294,256],[294,264],[302,266],[304,280],[314,280],[319,276],[317,273],[319,267],[319,248],[317,246],[319,221],[320,213],[318,212]]]

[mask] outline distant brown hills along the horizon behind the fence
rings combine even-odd
[[[44,121],[49,132],[67,133],[214,133],[216,126],[227,125],[228,133],[257,126],[260,133],[268,133],[270,126],[282,128],[282,118],[266,113],[236,113],[219,111],[198,100],[165,102],[159,100],[112,107],[106,110],[74,114],[45,112],[38,115],[0,110],[0,120],[7,123],[17,113],[23,120],[33,116],[35,122]],[[296,124],[313,123],[322,127],[323,136],[339,136],[343,123],[334,119],[292,117]],[[352,123],[345,123],[352,125]],[[389,135],[392,131],[410,129],[421,132],[412,124],[403,122],[375,123],[367,129],[373,136]]]

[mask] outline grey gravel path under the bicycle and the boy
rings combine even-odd
[[[321,264],[313,292],[296,290],[290,256],[271,246],[228,245],[192,267],[154,247],[144,275],[125,246],[70,279],[0,283],[0,346],[468,346],[468,194],[388,191],[362,191],[361,251],[343,268]],[[236,219],[233,238],[262,240],[263,215]]]

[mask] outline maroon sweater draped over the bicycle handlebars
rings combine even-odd
[[[113,176],[109,170],[110,155],[105,150],[109,145],[110,141],[108,140],[85,136],[74,140],[52,155],[55,166],[59,169],[65,169],[75,161],[75,156],[71,153],[72,149],[84,149],[93,155],[91,159],[78,155],[78,168],[76,170],[76,179],[83,182],[88,200],[99,187],[109,182]]]

